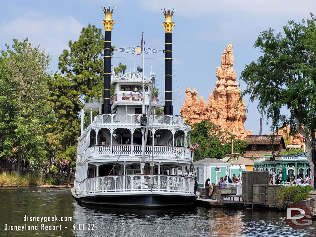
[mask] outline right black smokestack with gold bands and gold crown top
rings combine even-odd
[[[162,9],[161,9],[162,10]],[[162,26],[165,28],[165,105],[163,106],[164,114],[172,115],[172,30],[174,22],[172,15],[175,9],[170,12],[165,9],[162,12],[165,14],[165,21]]]

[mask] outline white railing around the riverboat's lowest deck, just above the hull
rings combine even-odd
[[[138,174],[88,178],[76,182],[76,195],[113,192],[194,193],[194,179],[183,176]]]

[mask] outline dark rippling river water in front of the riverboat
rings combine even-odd
[[[57,221],[45,222],[44,217],[55,216]],[[30,217],[43,217],[43,221],[30,221]],[[61,221],[62,217],[70,220]],[[5,230],[5,227],[25,228],[25,225],[30,228],[38,225],[38,230]],[[61,229],[54,230],[56,226]],[[70,189],[0,187],[0,236],[303,237],[316,236],[315,227],[313,222],[303,230],[292,229],[285,221],[284,212],[202,207],[154,211],[87,207],[72,198]]]

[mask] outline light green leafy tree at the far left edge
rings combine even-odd
[[[0,156],[16,158],[18,172],[24,157],[40,173],[48,155],[46,81],[51,57],[27,39],[14,39],[12,49],[6,46],[0,58]]]

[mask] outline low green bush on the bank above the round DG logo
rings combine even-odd
[[[307,186],[289,186],[281,187],[276,192],[276,203],[279,209],[287,209],[289,206],[299,203],[300,200],[306,199],[308,193],[313,190],[313,187]]]

